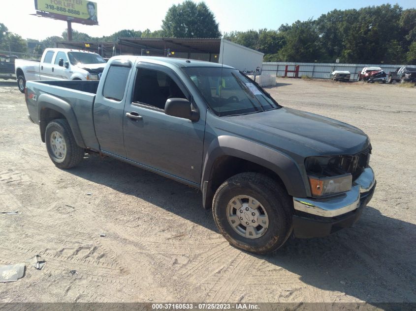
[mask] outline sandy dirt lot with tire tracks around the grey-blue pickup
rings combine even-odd
[[[0,302],[416,302],[416,88],[278,79],[268,91],[364,130],[378,184],[355,227],[256,256],[182,184],[97,156],[57,169],[24,96],[0,84],[0,212],[19,211],[0,214],[0,264],[46,261],[0,283]]]

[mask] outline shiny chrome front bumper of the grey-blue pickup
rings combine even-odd
[[[371,168],[365,169],[352,182],[352,188],[346,193],[330,198],[293,198],[295,210],[322,217],[336,217],[357,209],[362,193],[370,191],[376,182]]]

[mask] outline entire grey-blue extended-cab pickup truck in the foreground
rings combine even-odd
[[[376,187],[363,131],[285,108],[226,65],[117,56],[100,81],[28,81],[25,98],[55,166],[88,151],[199,189],[245,251],[350,227]]]

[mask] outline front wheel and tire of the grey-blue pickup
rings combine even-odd
[[[290,236],[293,203],[275,180],[246,172],[230,177],[218,188],[213,215],[231,246],[267,254],[282,247]],[[246,226],[252,223],[253,226]]]

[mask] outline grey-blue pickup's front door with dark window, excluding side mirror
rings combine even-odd
[[[199,185],[206,111],[199,107],[200,117],[194,122],[165,114],[168,98],[192,101],[179,76],[166,66],[144,62],[139,62],[133,72],[131,98],[124,111],[127,158]]]

